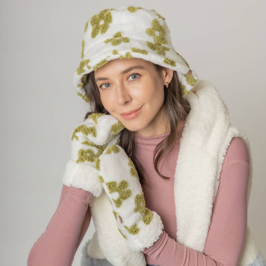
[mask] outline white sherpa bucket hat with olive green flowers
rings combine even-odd
[[[86,22],[81,43],[81,62],[73,81],[77,94],[86,102],[90,102],[84,89],[88,73],[117,58],[142,58],[176,70],[183,95],[197,84],[197,74],[173,48],[165,18],[154,9],[103,9]]]

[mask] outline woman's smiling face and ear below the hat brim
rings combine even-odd
[[[173,70],[164,68],[160,77],[150,61],[113,59],[95,70],[94,77],[104,108],[128,130],[145,137],[169,131],[163,117],[164,85],[172,80]],[[121,115],[140,107],[131,119]]]

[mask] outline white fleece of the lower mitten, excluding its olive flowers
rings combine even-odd
[[[159,239],[162,233],[163,223],[160,216],[152,211],[153,217],[151,222],[146,225],[142,219],[143,215],[134,209],[136,207],[135,197],[137,194],[142,195],[142,187],[136,176],[130,174],[131,166],[128,165],[128,156],[124,149],[118,145],[115,145],[119,149],[119,152],[106,153],[106,150],[110,147],[108,145],[103,153],[99,156],[100,170],[99,175],[103,178],[103,189],[111,201],[111,205],[114,211],[119,213],[122,218],[120,223],[117,217],[117,224],[119,229],[124,235],[126,235],[126,244],[134,251],[143,251],[145,248],[152,246],[152,244]],[[131,196],[126,200],[122,200],[120,207],[116,207],[113,201],[119,197],[118,192],[110,193],[106,185],[107,182],[117,182],[116,186],[119,187],[121,181],[127,181],[128,186],[126,190],[131,191]],[[145,200],[144,200],[145,201]],[[142,205],[142,204],[141,204]],[[124,226],[131,227],[136,223],[136,227],[139,228],[139,232],[135,235],[130,234]]]

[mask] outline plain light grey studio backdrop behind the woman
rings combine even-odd
[[[1,1],[1,264],[26,265],[60,198],[70,134],[88,106],[73,89],[88,18],[135,5],[166,18],[173,46],[226,103],[250,140],[248,224],[266,255],[266,2]],[[81,248],[94,232],[91,220]]]

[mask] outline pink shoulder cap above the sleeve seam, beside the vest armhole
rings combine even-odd
[[[228,161],[250,162],[248,148],[244,140],[240,137],[232,138],[225,155],[224,164]]]

